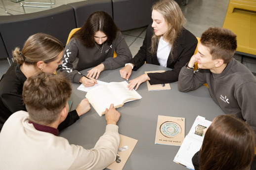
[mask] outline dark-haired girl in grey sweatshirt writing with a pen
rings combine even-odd
[[[113,57],[116,54],[117,57]],[[73,83],[93,86],[103,70],[113,70],[131,59],[128,45],[111,16],[104,11],[93,12],[81,29],[73,34],[65,47],[59,66]],[[81,70],[92,68],[85,78]]]

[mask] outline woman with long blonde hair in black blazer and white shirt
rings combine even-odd
[[[164,73],[148,73],[133,79],[128,85],[132,90],[149,81],[151,85],[173,83],[183,66],[189,62],[197,47],[196,37],[183,26],[186,22],[179,5],[174,0],[160,0],[152,6],[153,23],[147,28],[140,50],[124,68],[122,78],[128,80],[146,61],[148,64],[171,68]]]

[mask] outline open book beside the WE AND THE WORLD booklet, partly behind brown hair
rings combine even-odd
[[[204,129],[211,125],[211,121],[206,120],[205,117],[197,116],[192,128],[190,129],[188,135],[182,142],[178,153],[174,158],[174,162],[181,164],[188,169],[194,170],[192,164],[192,158],[197,153],[204,140]]]

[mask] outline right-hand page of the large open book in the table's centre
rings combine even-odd
[[[117,98],[124,102],[128,98],[142,98],[134,89],[128,90],[127,88],[128,83],[126,81],[124,82],[112,82],[109,83],[107,86],[109,89],[117,96]]]

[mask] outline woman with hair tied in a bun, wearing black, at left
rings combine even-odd
[[[12,52],[14,63],[0,80],[0,130],[12,113],[26,111],[22,99],[24,82],[41,71],[54,73],[58,65],[61,64],[63,49],[59,40],[44,33],[30,36],[22,51],[18,47],[15,48]],[[88,109],[88,102],[83,100],[76,110],[68,114],[58,129],[61,130],[72,125]]]

